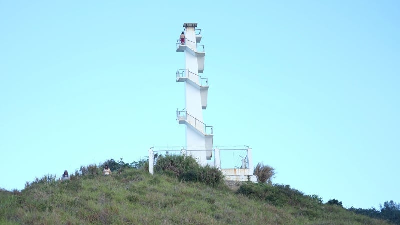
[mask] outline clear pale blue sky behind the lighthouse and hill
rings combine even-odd
[[[183,146],[175,43],[197,22],[214,145],[249,145],[324,202],[400,202],[399,15],[394,0],[0,0],[0,187]]]

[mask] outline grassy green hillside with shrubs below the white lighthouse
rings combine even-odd
[[[154,175],[144,161],[129,166],[120,160],[110,176],[89,165],[70,180],[47,175],[22,191],[1,190],[0,223],[389,224],[288,185],[242,183],[234,191],[217,170],[179,157],[159,158]]]

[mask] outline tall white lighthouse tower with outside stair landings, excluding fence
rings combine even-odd
[[[176,82],[185,86],[185,107],[176,110],[179,124],[186,127],[187,155],[195,158],[200,165],[206,165],[212,158],[213,130],[205,125],[202,110],[207,108],[208,79],[199,74],[204,71],[204,45],[200,45],[201,30],[197,23],[184,23],[184,38],[179,38],[176,51],[184,52],[185,68],[176,72]]]

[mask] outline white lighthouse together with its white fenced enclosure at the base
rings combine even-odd
[[[212,126],[206,125],[203,120],[203,110],[207,108],[208,79],[200,74],[204,71],[204,45],[201,41],[201,29],[197,28],[197,23],[184,23],[183,35],[176,42],[176,51],[184,52],[185,68],[176,71],[176,82],[184,84],[185,106],[183,109],[176,109],[176,120],[179,124],[185,125],[186,147],[181,150],[182,154],[191,156],[197,160],[201,166],[210,164],[220,169],[226,180],[252,181],[257,182],[254,176],[252,161],[252,149],[231,149],[232,151],[246,152],[241,157],[240,167],[225,167],[221,165],[221,151],[229,149],[213,149],[213,130]],[[155,163],[154,152],[168,150],[148,150],[148,171],[154,174],[153,165]],[[214,155],[213,155],[214,152]],[[158,154],[158,153],[157,153]],[[234,154],[233,154],[234,155]],[[213,163],[208,163],[212,159]]]

